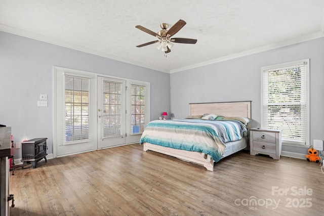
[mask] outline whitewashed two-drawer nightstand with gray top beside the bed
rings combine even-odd
[[[281,156],[281,131],[275,129],[250,129],[250,154],[265,154],[279,160]]]

